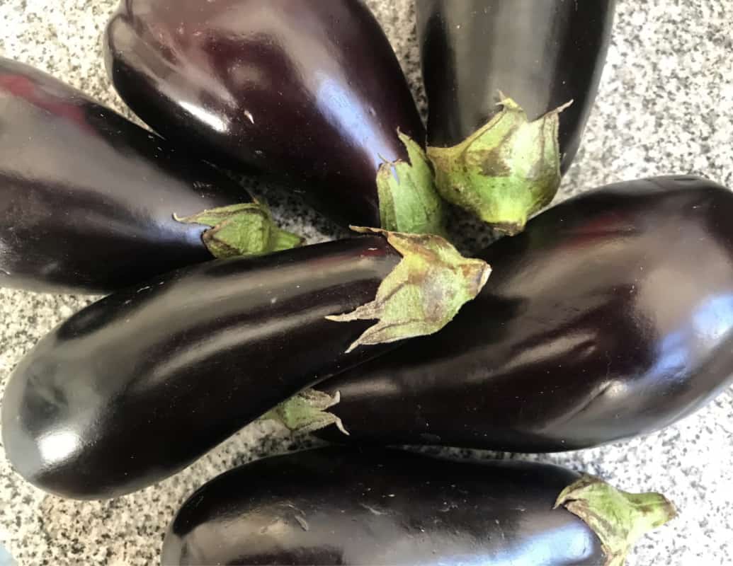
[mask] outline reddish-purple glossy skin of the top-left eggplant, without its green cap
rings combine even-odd
[[[108,74],[133,111],[214,163],[279,177],[339,222],[380,226],[375,178],[424,128],[361,0],[121,0]]]

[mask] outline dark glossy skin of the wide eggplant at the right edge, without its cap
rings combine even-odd
[[[512,452],[670,425],[733,376],[733,193],[697,177],[572,198],[482,253],[493,275],[438,335],[317,387],[340,442]]]

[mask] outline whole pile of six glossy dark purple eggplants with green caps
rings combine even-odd
[[[596,447],[732,380],[730,190],[658,176],[539,212],[613,19],[417,2],[427,129],[361,0],[122,0],[106,67],[152,131],[0,59],[0,285],[111,293],[12,373],[14,469],[122,496],[275,419],[332,445],[204,485],[164,565],[623,565],[676,515],[663,495],[405,447]],[[354,236],[303,245],[228,171]],[[456,207],[503,237],[462,255]]]

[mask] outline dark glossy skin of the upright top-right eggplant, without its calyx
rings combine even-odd
[[[468,138],[499,110],[498,92],[529,119],[572,100],[560,115],[566,171],[598,90],[614,9],[615,0],[416,2],[428,145]]]

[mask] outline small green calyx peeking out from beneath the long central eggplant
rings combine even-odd
[[[286,399],[259,418],[276,420],[292,432],[314,432],[329,425],[336,425],[339,431],[348,435],[341,419],[326,411],[339,401],[341,401],[339,392],[336,392],[336,395],[328,395],[322,391],[306,389]]]

